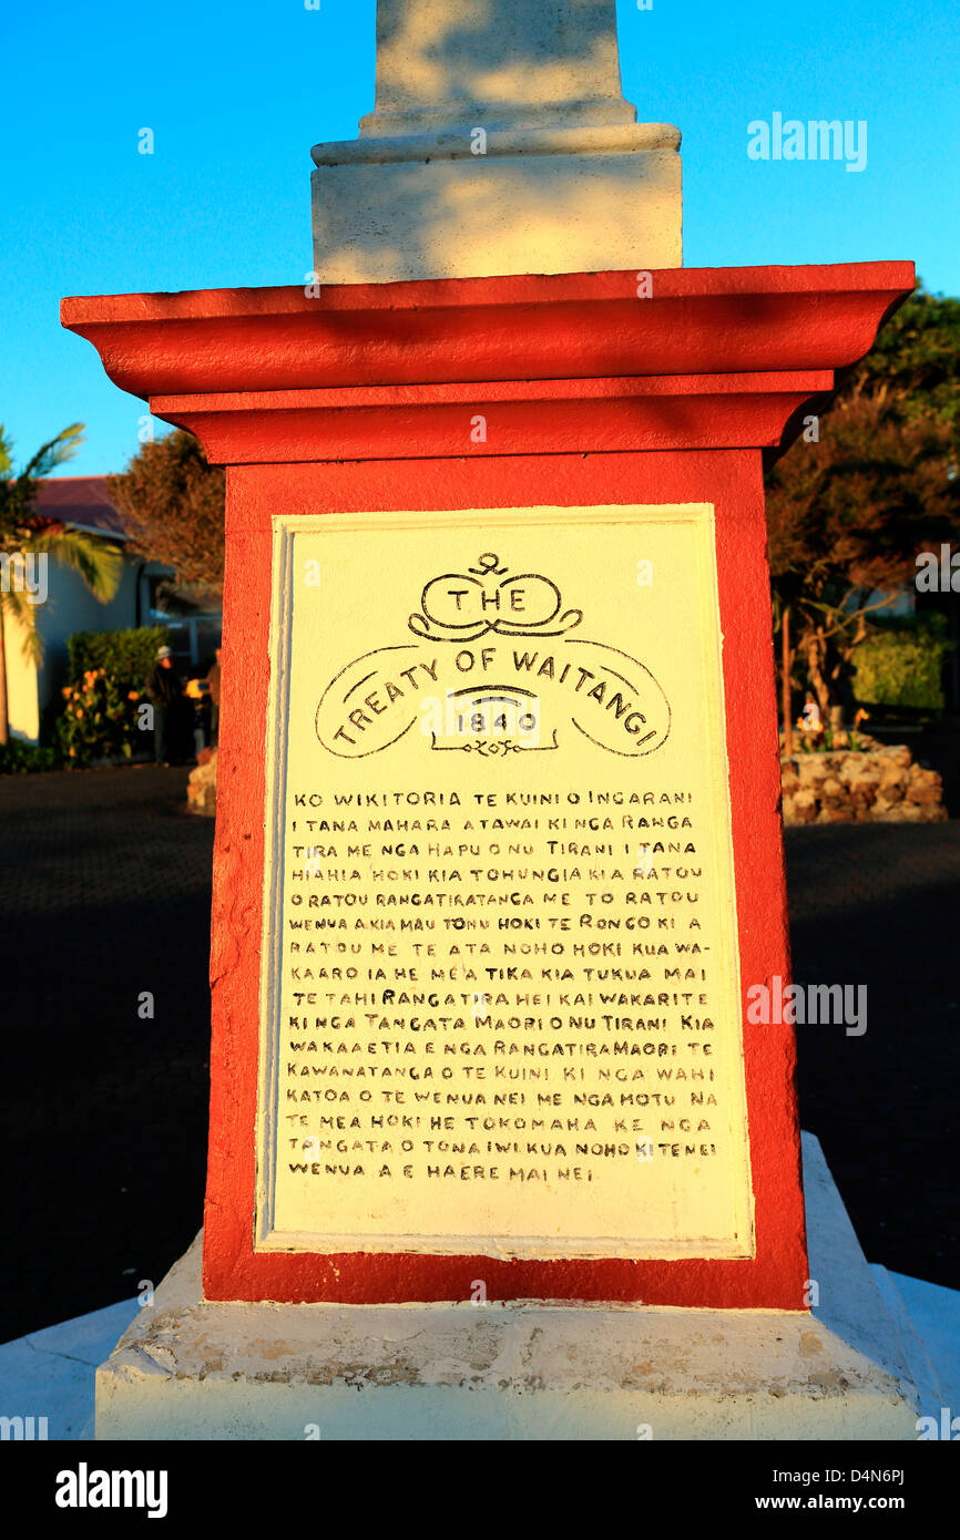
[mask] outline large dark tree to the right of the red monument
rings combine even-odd
[[[868,616],[958,522],[960,300],[920,288],[767,477],[774,616],[789,735],[797,656],[826,719]]]

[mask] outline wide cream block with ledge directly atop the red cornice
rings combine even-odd
[[[482,119],[478,119],[478,128]],[[680,132],[663,123],[317,145],[321,283],[678,268]]]

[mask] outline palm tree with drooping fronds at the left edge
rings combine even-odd
[[[6,618],[23,628],[23,656],[40,662],[43,644],[37,630],[37,607],[23,582],[15,581],[17,567],[9,557],[52,556],[63,567],[80,574],[100,604],[108,604],[117,591],[123,557],[109,545],[79,530],[69,530],[55,519],[43,519],[34,511],[37,484],[57,465],[69,460],[83,442],[83,424],[74,422],[55,439],[42,445],[32,460],[14,476],[12,444],[0,424],[0,744],[9,738],[6,702]]]

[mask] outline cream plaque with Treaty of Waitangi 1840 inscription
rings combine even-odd
[[[259,1250],[750,1257],[709,505],[274,519]]]

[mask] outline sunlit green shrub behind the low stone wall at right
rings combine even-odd
[[[942,711],[942,670],[952,642],[945,614],[872,625],[854,653],[854,693],[864,705]]]

